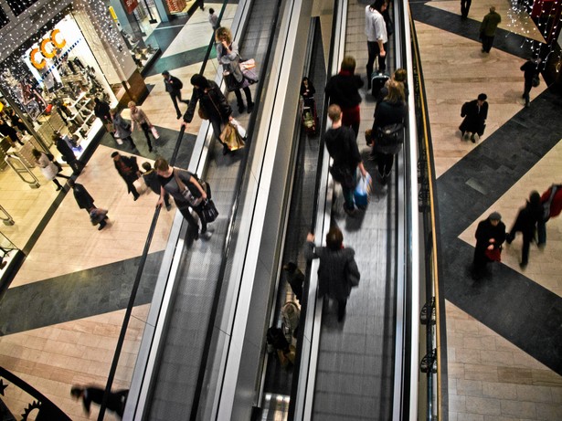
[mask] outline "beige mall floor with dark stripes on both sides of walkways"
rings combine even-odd
[[[516,33],[532,25],[519,16],[508,16],[507,4],[497,5],[504,23],[491,53],[482,54],[477,33],[488,6],[484,0],[472,1],[469,19],[462,21],[456,0],[411,4],[438,178],[448,415],[452,421],[555,421],[562,419],[562,278],[557,258],[562,253],[562,217],[548,222],[544,250],[531,246],[525,270],[519,268],[518,237],[504,247],[503,261],[491,275],[476,283],[467,273],[478,221],[499,211],[511,227],[530,191],[542,193],[562,177],[562,101],[545,89],[544,81],[531,91],[530,108],[524,108],[521,99],[519,67],[525,61],[525,48],[511,46],[519,47],[517,41],[523,38]],[[363,7],[352,2],[350,14],[361,19]],[[205,31],[206,17],[197,10],[186,27],[199,23],[197,30]],[[195,29],[182,29],[163,54],[171,57],[166,66],[184,80],[186,93],[186,81],[200,63],[192,62],[197,59],[195,53],[182,60],[177,46],[201,47],[193,45],[189,30]],[[210,37],[210,26],[207,30]],[[364,61],[358,58],[358,69],[365,68]],[[178,131],[159,71],[147,77],[146,83],[154,87],[143,110],[163,136],[155,152],[147,153],[142,134],[135,133],[140,162],[169,156]],[[462,141],[461,104],[481,92],[488,94],[490,103],[486,132],[475,144]],[[362,129],[367,125],[364,121]],[[188,127],[183,153],[190,153],[188,145],[198,128],[196,121]],[[364,142],[360,140],[363,147]],[[54,184],[43,182],[41,188],[31,190],[10,178],[11,174],[0,174],[0,201],[16,220],[3,233],[17,247],[29,250],[0,301],[0,364],[48,395],[74,420],[88,417],[71,400],[70,385],[105,384],[128,287],[156,202],[152,193],[137,201],[126,194],[111,162],[116,149],[130,153],[104,138],[78,179],[96,205],[110,210],[110,225],[102,231],[90,225],[72,195],[56,192]],[[69,174],[69,169],[65,172]],[[40,174],[37,177],[41,180]],[[175,207],[161,213],[151,248],[153,258],[164,250],[174,215]],[[133,318],[137,337],[125,345],[123,358],[130,371],[149,299],[149,294],[143,297],[144,304],[136,309],[138,317]],[[115,387],[125,387],[127,381],[119,378]]]

